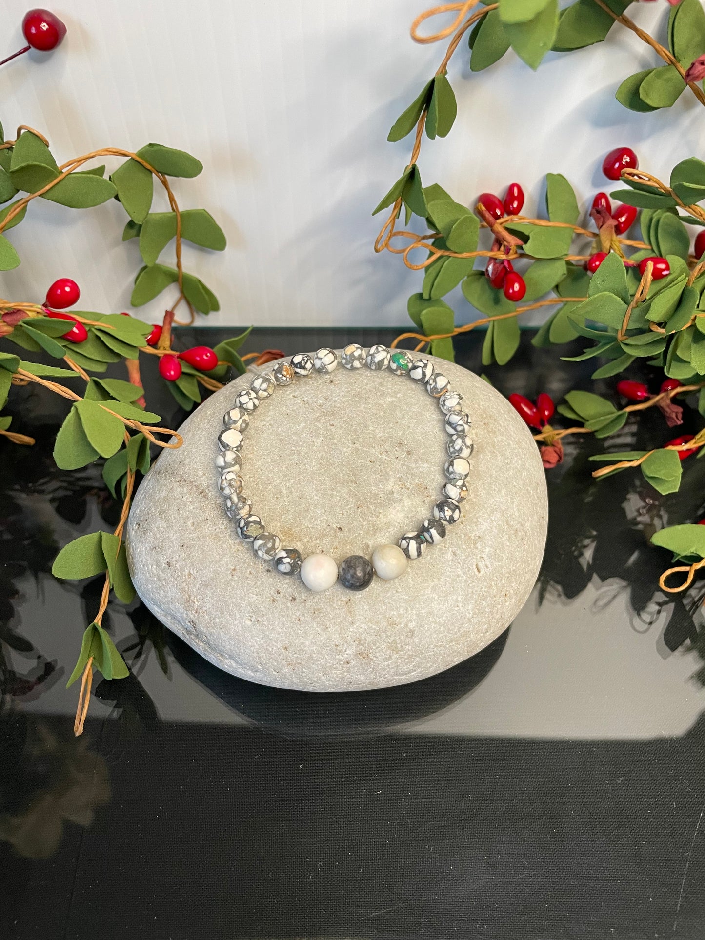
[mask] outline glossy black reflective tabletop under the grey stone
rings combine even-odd
[[[248,348],[348,337],[360,331],[259,330]],[[502,391],[594,390],[589,362],[529,338],[516,363],[485,370]],[[457,347],[478,372],[481,339]],[[3,940],[705,936],[704,582],[662,594],[669,558],[648,544],[704,514],[705,461],[661,496],[638,471],[592,480],[604,444],[576,438],[547,477],[549,540],[525,609],[474,659],[398,689],[243,682],[145,608],[111,604],[103,622],[132,674],[98,683],[75,739],[65,685],[102,584],[49,570],[119,507],[100,468],[55,469],[64,402],[33,387],[13,400],[12,430],[38,444],[0,441]],[[652,411],[608,448],[674,436]]]

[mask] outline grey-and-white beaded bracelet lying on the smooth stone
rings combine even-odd
[[[342,351],[340,361],[351,370],[367,365],[373,371],[389,368],[395,375],[408,375],[414,382],[424,384],[432,398],[437,399],[445,416],[449,435],[448,459],[444,467],[446,484],[443,498],[415,532],[405,532],[397,545],[380,545],[372,552],[371,560],[362,555],[351,555],[339,566],[329,555],[302,556],[296,548],[282,548],[278,536],[267,532],[258,515],[252,511],[252,501],[243,495],[242,469],[243,431],[250,423],[261,401],[270,398],[277,385],[290,385],[295,378],[305,377],[315,370],[323,374],[337,367],[337,354],[324,348],[313,357],[299,352],[290,362],[278,362],[271,372],[259,373],[249,388],[235,397],[234,407],[223,417],[226,430],[218,435],[220,452],[215,465],[220,472],[219,489],[226,497],[227,515],[236,522],[238,535],[251,542],[255,555],[264,561],[273,561],[281,574],[301,574],[306,587],[314,591],[326,590],[339,580],[351,590],[368,587],[376,573],[385,581],[399,577],[408,565],[408,559],[419,558],[426,545],[436,545],[446,538],[446,525],[458,522],[460,504],[467,496],[466,478],[470,473],[468,458],[473,442],[468,436],[470,418],[462,411],[462,395],[450,389],[445,375],[436,372],[428,359],[412,359],[408,352],[389,350],[386,346],[372,346],[367,355],[362,346],[352,343]]]

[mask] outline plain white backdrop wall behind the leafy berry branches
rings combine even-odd
[[[59,163],[149,141],[194,153],[204,171],[176,181],[180,205],[211,211],[228,240],[220,255],[184,249],[187,270],[220,298],[210,325],[405,325],[420,274],[374,254],[380,217],[370,211],[410,149],[408,139],[387,144],[386,133],[445,52],[409,38],[428,6],[59,0],[52,8],[68,35],[54,53],[0,69],[0,119],[8,136],[18,124],[45,133]],[[629,13],[651,29],[665,24],[666,9],[660,0]],[[24,44],[24,7],[0,0],[0,10],[0,52],[8,55]],[[674,163],[700,153],[700,106],[688,92],[646,115],[614,100],[621,78],[655,59],[616,26],[601,46],[550,54],[536,73],[509,52],[471,74],[463,42],[448,71],[459,117],[445,140],[424,141],[424,182],[470,202],[518,180],[533,210],[545,172],[561,172],[586,205],[605,184],[603,153],[621,144],[667,179]],[[10,234],[23,263],[1,275],[2,296],[41,300],[67,275],[81,285],[83,309],[130,309],[141,262],[136,242],[120,242],[117,203],[75,211],[37,200],[30,212]],[[455,306],[459,322],[475,316],[462,297]],[[161,319],[164,301],[141,311]]]

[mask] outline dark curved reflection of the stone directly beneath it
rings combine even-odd
[[[340,693],[297,692],[247,682],[212,666],[174,634],[169,634],[168,645],[197,682],[253,724],[288,738],[325,740],[386,734],[442,711],[482,682],[508,635],[506,630],[477,656],[429,679],[391,689]]]

